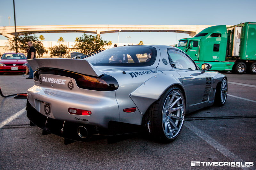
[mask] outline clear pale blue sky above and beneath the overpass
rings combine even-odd
[[[14,26],[13,1],[0,1],[0,26]],[[15,0],[16,25],[236,25],[256,22],[256,0]],[[82,33],[45,33],[45,41],[74,41]],[[93,34],[96,35],[96,34]],[[119,33],[119,43],[175,44],[182,33]],[[117,33],[101,34],[117,43]],[[0,39],[7,39],[0,35]]]

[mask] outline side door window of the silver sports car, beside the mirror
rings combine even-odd
[[[177,50],[168,50],[172,67],[186,70],[196,70],[195,63],[184,53]]]

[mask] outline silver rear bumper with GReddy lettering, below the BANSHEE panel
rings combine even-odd
[[[52,119],[103,128],[108,127],[109,121],[119,121],[115,91],[97,92],[85,89],[68,91],[35,85],[28,89],[27,94],[32,107],[40,114]],[[46,104],[50,107],[49,114],[45,113]],[[92,114],[88,116],[70,114],[68,108],[88,110]]]

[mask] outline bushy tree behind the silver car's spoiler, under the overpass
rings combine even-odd
[[[107,41],[103,41],[100,36],[86,35],[84,33],[81,37],[77,38],[73,49],[84,54],[92,53],[97,50],[104,50],[104,46],[107,45]]]

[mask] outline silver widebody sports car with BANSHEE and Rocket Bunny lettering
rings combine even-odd
[[[27,92],[31,125],[66,144],[138,132],[171,142],[186,113],[227,99],[227,77],[175,47],[121,46],[79,58],[28,60],[36,70]]]

